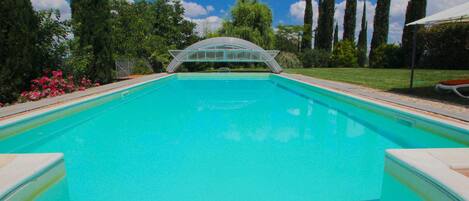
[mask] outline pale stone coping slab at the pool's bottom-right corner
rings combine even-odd
[[[410,172],[427,185],[435,189],[432,193],[450,200],[469,200],[469,177],[458,170],[469,169],[469,148],[442,149],[388,149],[386,160],[395,163],[404,171]],[[391,171],[391,164],[386,163],[386,171]],[[422,188],[399,179],[411,188]],[[428,191],[429,189],[427,189]],[[426,192],[418,190],[422,194]]]

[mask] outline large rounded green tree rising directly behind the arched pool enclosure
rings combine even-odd
[[[219,33],[271,49],[275,40],[272,11],[269,6],[257,0],[238,0],[231,10],[231,20],[223,23]]]

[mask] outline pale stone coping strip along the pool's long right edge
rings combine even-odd
[[[303,79],[298,79],[292,76],[292,74],[286,74],[286,73],[274,74],[274,75],[285,78],[285,79],[293,80],[299,83],[303,83],[306,85],[310,85],[313,87],[322,88],[322,89],[332,91],[334,93],[338,93],[344,96],[349,96],[349,97],[352,97],[352,98],[355,98],[364,102],[369,102],[369,103],[376,104],[382,107],[388,107],[397,111],[407,112],[407,113],[419,116],[424,119],[426,118],[426,119],[430,119],[433,121],[440,121],[448,125],[452,125],[455,127],[469,130],[469,117],[466,121],[466,119],[447,116],[435,110],[425,110],[419,107],[412,107],[412,106],[409,106],[409,105],[406,105],[397,101],[393,101],[393,100],[386,100],[383,98],[365,96],[363,94],[356,94],[345,89],[345,86],[349,85],[346,83],[333,82],[329,80],[321,80],[321,79],[316,79],[316,78],[312,78],[308,76],[302,76],[302,77],[307,78],[307,80],[303,80]],[[333,84],[332,85],[330,83],[327,84],[326,81],[331,82]]]

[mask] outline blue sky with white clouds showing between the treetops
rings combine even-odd
[[[71,16],[69,0],[31,0],[35,9],[56,8],[62,13],[64,19]],[[134,0],[127,0],[133,2]],[[180,0],[186,9],[187,19],[197,24],[197,31],[202,30],[215,31],[220,26],[230,11],[235,0]],[[468,0],[427,0],[427,15],[434,14]],[[261,0],[272,9],[274,26],[282,24],[302,24],[305,2],[304,0]],[[402,29],[404,26],[405,9],[408,0],[391,0],[390,25],[389,25],[389,43],[400,43]],[[368,39],[371,41],[373,32],[373,16],[376,6],[376,0],[366,0],[367,20],[368,20]],[[313,0],[314,21],[317,20],[317,0]],[[360,18],[362,15],[363,0],[358,0],[357,11],[357,32],[359,31]],[[339,23],[339,36],[342,36],[342,21],[345,10],[344,0],[336,1],[335,18]],[[358,34],[357,34],[358,35]]]

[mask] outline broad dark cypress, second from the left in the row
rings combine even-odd
[[[321,1],[321,11],[318,17],[318,39],[317,48],[326,51],[332,49],[332,35],[334,31],[334,0]]]

